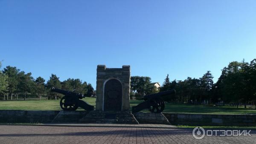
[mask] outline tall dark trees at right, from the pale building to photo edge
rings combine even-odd
[[[166,101],[192,104],[254,104],[256,101],[256,59],[250,63],[233,61],[222,69],[218,81],[213,84],[207,71],[201,78],[188,77],[184,81],[169,81],[167,75],[160,92],[175,88],[176,95]]]

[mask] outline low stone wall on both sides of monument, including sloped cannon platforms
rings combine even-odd
[[[76,122],[85,115],[87,115],[86,111],[0,110],[0,123]],[[140,124],[168,124],[167,121],[169,121],[174,125],[256,126],[256,115],[154,114],[137,112],[134,113],[134,116]]]

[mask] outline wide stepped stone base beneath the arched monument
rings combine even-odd
[[[95,124],[139,124],[134,115],[130,111],[125,112],[103,112],[90,111],[83,118],[79,119],[79,123],[95,123]]]

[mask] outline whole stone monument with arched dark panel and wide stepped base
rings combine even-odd
[[[139,124],[130,109],[130,66],[97,66],[96,109],[79,123]]]

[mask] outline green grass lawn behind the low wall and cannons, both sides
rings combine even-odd
[[[90,105],[95,106],[96,98],[83,98]],[[59,106],[60,100],[26,100],[26,101],[0,101],[0,109],[22,109],[22,110],[61,110]],[[131,100],[131,107],[136,106],[140,102]],[[82,109],[78,109],[82,110]],[[143,112],[149,112],[144,110]],[[167,103],[163,112],[176,113],[202,113],[202,114],[256,114],[255,109],[244,109],[243,107],[230,106],[205,106],[192,104],[172,104]]]

